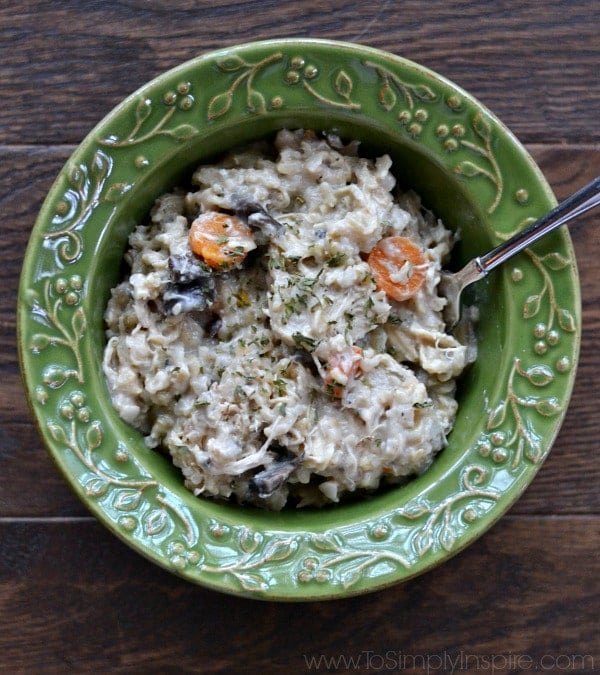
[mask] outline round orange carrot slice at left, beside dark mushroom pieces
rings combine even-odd
[[[190,227],[192,251],[215,269],[239,265],[256,248],[252,230],[236,216],[218,211],[200,214]]]

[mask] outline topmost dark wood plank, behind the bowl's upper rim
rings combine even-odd
[[[598,140],[599,24],[600,6],[586,0],[403,0],[401,8],[332,0],[327,11],[318,0],[3,3],[0,144],[77,143],[125,95],[198,53],[293,36],[362,42],[421,62],[524,141]]]

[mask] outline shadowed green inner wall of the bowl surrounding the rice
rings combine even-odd
[[[333,119],[332,119],[333,117]],[[393,160],[393,173],[398,185],[404,189],[415,190],[423,199],[426,208],[431,209],[445,225],[461,233],[460,242],[455,247],[451,266],[458,269],[461,263],[470,257],[488,250],[492,246],[493,235],[486,225],[485,213],[469,194],[469,186],[461,183],[458,176],[452,174],[446,167],[436,161],[436,157],[424,151],[417,143],[410,142],[398,135],[390,134],[384,129],[373,128],[368,123],[349,123],[346,119],[335,119],[335,116],[322,117],[312,111],[303,111],[297,116],[285,116],[282,119],[268,119],[257,124],[256,121],[247,124],[236,124],[233,129],[226,129],[227,141],[224,141],[223,129],[215,130],[213,134],[206,134],[201,141],[190,143],[179,152],[162,158],[156,164],[155,170],[148,175],[147,180],[140,182],[135,191],[127,200],[120,205],[114,218],[114,225],[106,229],[104,237],[96,246],[96,255],[91,261],[94,266],[90,269],[90,278],[94,279],[93,302],[89,305],[91,319],[90,329],[93,331],[93,339],[90,341],[90,362],[101,364],[102,352],[105,345],[103,313],[110,295],[110,289],[120,280],[124,273],[123,255],[127,245],[127,237],[132,228],[147,220],[150,208],[158,195],[161,195],[176,186],[191,185],[191,174],[198,165],[210,163],[219,158],[224,152],[243,145],[244,143],[271,137],[281,128],[288,129],[316,129],[318,131],[333,132],[345,140],[360,140],[360,152],[365,156],[377,157],[389,154]],[[494,280],[486,280],[469,291],[468,302],[489,309],[478,325],[478,342],[480,358],[468,372],[465,373],[459,383],[458,398],[461,408],[466,409],[468,402],[479,396],[479,392],[485,389],[486,378],[490,377],[489,370],[484,369],[482,364],[488,355],[497,354],[502,349],[505,339],[505,330],[499,317],[503,312],[504,291]],[[98,302],[98,299],[101,299]],[[103,376],[99,372],[99,380]],[[102,398],[108,400],[107,392],[102,391]],[[111,418],[115,427],[122,427],[122,422],[115,416],[111,406],[105,407],[105,414]],[[472,420],[466,415],[461,415],[458,424],[452,431],[452,438],[459,447],[465,445],[465,434],[472,430]],[[129,442],[137,446],[138,451],[145,453],[141,436],[138,438],[132,434],[128,427],[123,429],[127,433]],[[458,437],[458,438],[456,438]],[[451,455],[452,452],[446,453]],[[441,458],[442,455],[440,455]],[[148,458],[150,459],[150,458]],[[169,459],[158,455],[156,461],[151,461],[153,471],[158,472],[161,481],[169,482],[173,489],[181,487],[180,473],[172,467]],[[439,458],[438,458],[439,459]],[[440,462],[436,462],[440,464]],[[436,471],[428,471],[418,481],[412,481],[406,490],[418,493],[422,489],[421,483],[431,484],[436,481]],[[393,501],[395,489],[390,490]],[[371,498],[371,502],[377,502],[377,496]],[[209,502],[210,503],[210,502]],[[210,503],[211,508],[222,505]],[[225,506],[225,508],[247,512],[248,507]],[[335,507],[343,511],[345,505]],[[255,511],[255,516],[261,512]],[[310,511],[310,510],[309,510]],[[303,518],[302,513],[295,517]],[[320,519],[321,511],[316,512],[317,520]],[[271,516],[267,516],[269,518]],[[312,519],[313,516],[310,516]]]

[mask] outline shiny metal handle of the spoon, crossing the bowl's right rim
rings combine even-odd
[[[513,255],[530,246],[548,232],[552,232],[557,227],[568,223],[573,218],[577,218],[577,216],[598,205],[600,205],[600,176],[565,199],[564,202],[561,202],[529,227],[502,242],[489,253],[476,258],[475,262],[481,276],[485,276],[490,270],[512,258]]]

